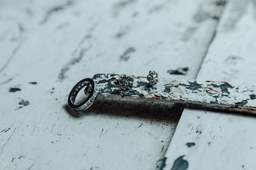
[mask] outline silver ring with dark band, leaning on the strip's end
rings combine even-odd
[[[88,97],[80,104],[75,104],[76,96],[83,87],[86,86],[84,94],[88,94]],[[71,110],[81,111],[89,108],[95,101],[98,94],[97,84],[94,83],[92,78],[84,78],[79,81],[73,89],[70,91],[68,96],[68,106]]]

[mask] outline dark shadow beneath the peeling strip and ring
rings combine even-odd
[[[179,118],[184,108],[173,103],[159,103],[155,101],[150,102],[134,102],[134,101],[120,101],[118,99],[108,100],[96,99],[88,110],[72,111],[68,106],[64,106],[65,110],[72,117],[83,117],[88,113],[106,114],[120,117],[138,117],[151,118],[154,120],[170,120],[179,122]]]

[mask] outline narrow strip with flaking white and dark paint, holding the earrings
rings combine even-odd
[[[147,78],[132,76],[133,87],[124,92],[118,85],[119,77],[118,74],[95,74],[93,80],[99,85],[99,94],[109,98],[122,96],[124,100],[158,100],[180,104],[185,108],[256,113],[255,86],[235,87],[224,81],[159,78],[157,85],[151,87]]]

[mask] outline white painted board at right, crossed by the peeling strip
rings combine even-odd
[[[228,1],[197,80],[255,84],[255,19],[255,1]],[[188,169],[256,169],[255,125],[251,116],[184,110],[164,169],[182,155]]]

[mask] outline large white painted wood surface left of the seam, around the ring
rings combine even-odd
[[[96,73],[195,78],[216,2],[0,1],[0,169],[157,169],[177,119],[103,104],[72,117],[68,92]]]

